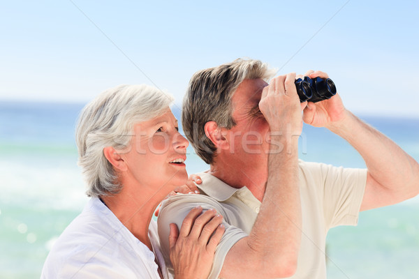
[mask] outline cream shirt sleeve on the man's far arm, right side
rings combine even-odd
[[[367,183],[367,169],[305,163],[323,196],[325,225],[357,225]]]

